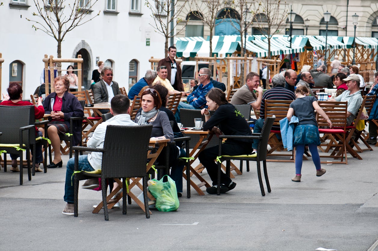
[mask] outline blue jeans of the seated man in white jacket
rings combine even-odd
[[[64,187],[64,201],[73,203],[73,180],[72,174],[75,168],[75,158],[70,158],[67,162],[66,184]],[[91,164],[88,162],[88,155],[79,155],[79,171],[94,171]]]

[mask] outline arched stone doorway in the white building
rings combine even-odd
[[[85,40],[81,40],[80,43],[76,45],[76,47],[73,50],[72,57],[77,58],[77,55],[81,55],[83,59],[83,63],[81,65],[82,67],[82,85],[85,87],[85,89],[89,89],[91,85],[91,77],[92,77],[92,62],[93,62],[93,56],[92,56],[92,50],[91,47]],[[77,65],[74,65],[75,69],[77,69]]]

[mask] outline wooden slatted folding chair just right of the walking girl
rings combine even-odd
[[[347,133],[347,102],[337,101],[318,101],[319,106],[323,109],[325,114],[332,122],[332,129],[325,118],[318,113],[316,114],[316,121],[319,126],[319,133],[324,136],[321,139],[321,144],[318,146],[322,152],[328,152],[329,149],[335,149],[330,155],[319,154],[320,158],[333,158],[332,161],[321,161],[324,164],[348,164],[347,148],[345,147],[345,135]],[[338,126],[339,125],[339,126]],[[328,141],[329,140],[329,141]],[[324,150],[322,147],[326,147]],[[345,158],[345,161],[344,161]],[[340,159],[339,161],[335,161]]]

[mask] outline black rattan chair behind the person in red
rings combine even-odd
[[[36,130],[34,119],[34,105],[25,106],[8,106],[0,105],[0,128],[2,137],[0,141],[0,150],[6,153],[14,153],[20,155],[20,185],[23,184],[23,151],[26,150],[26,159],[28,160],[28,179],[31,180],[31,166],[29,159],[29,150],[31,145],[36,145]],[[47,122],[47,121],[46,121]],[[45,122],[45,123],[46,123]],[[35,149],[33,148],[32,166],[35,166]],[[4,153],[4,172],[6,172],[6,153]],[[45,153],[45,172],[46,172],[46,153]],[[35,172],[35,170],[34,170]],[[33,175],[34,175],[33,172]]]

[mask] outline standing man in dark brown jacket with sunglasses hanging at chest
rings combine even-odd
[[[175,60],[177,49],[175,46],[169,46],[168,57],[161,59],[158,63],[158,69],[161,66],[167,67],[167,79],[175,90],[184,91],[183,80],[181,79],[181,67]],[[168,88],[167,88],[168,89]],[[169,89],[168,89],[169,90]]]

